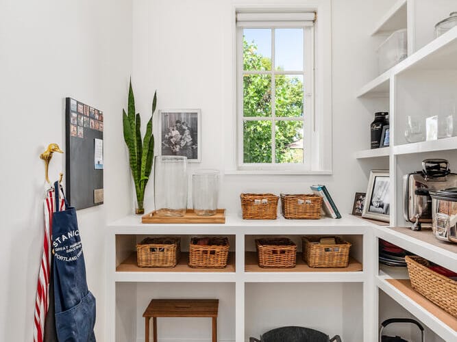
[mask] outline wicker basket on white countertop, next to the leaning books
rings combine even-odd
[[[322,197],[314,194],[281,194],[282,215],[286,219],[319,220]]]

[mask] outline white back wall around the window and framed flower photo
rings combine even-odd
[[[354,193],[365,192],[367,184],[367,167],[354,161],[353,153],[361,146],[368,148],[369,123],[373,120],[373,115],[360,118],[360,112],[367,109],[354,94],[376,73],[376,64],[368,62],[375,61],[375,45],[367,32],[374,18],[378,19],[378,10],[388,6],[386,2],[332,1],[333,175],[225,175],[221,207],[239,212],[241,192],[310,192],[309,185],[324,183],[341,212],[351,211]],[[236,3],[297,5],[304,1]],[[134,1],[136,105],[141,113],[149,113],[151,94],[157,89],[158,109],[201,108],[202,161],[190,165],[190,170],[218,168],[223,171],[225,151],[235,148],[224,146],[224,135],[230,133],[225,131],[224,122],[234,115],[233,13],[230,0]],[[373,49],[367,49],[371,45]],[[375,109],[371,109],[373,113]],[[153,209],[151,184],[145,207]]]

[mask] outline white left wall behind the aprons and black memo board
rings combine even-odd
[[[0,341],[32,341],[42,251],[44,166],[38,155],[64,148],[64,101],[105,113],[105,200],[78,211],[97,341],[105,324],[106,220],[131,211],[121,131],[132,73],[132,1],[0,1]],[[51,161],[50,177],[64,170]]]

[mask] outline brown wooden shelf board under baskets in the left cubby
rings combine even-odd
[[[120,263],[116,267],[116,272],[166,272],[166,273],[173,273],[173,272],[186,272],[186,273],[193,273],[193,272],[235,272],[235,253],[230,252],[229,254],[229,261],[227,263],[227,267],[225,268],[193,268],[187,265],[189,260],[189,254],[186,252],[181,253],[181,259],[177,263],[177,265],[173,268],[166,268],[166,267],[138,267],[136,264],[136,252],[130,254],[130,256],[125,259],[122,263]]]

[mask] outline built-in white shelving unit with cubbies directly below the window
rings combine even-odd
[[[247,284],[291,283],[291,284],[360,284],[361,289],[368,291],[372,282],[373,265],[373,227],[375,224],[361,220],[352,215],[334,220],[285,220],[278,216],[277,220],[243,220],[240,215],[228,214],[225,224],[142,224],[138,216],[129,216],[112,222],[107,228],[108,250],[108,308],[110,324],[116,326],[116,289],[121,284],[147,284],[162,282],[181,283],[232,283],[236,288],[236,341],[245,341],[245,287]],[[225,269],[193,269],[187,266],[185,244],[180,263],[172,269],[140,268],[136,265],[135,246],[145,236],[180,236],[182,241],[195,235],[223,235],[231,242],[230,261]],[[303,235],[338,235],[352,241],[351,260],[344,269],[313,269],[308,267],[297,254],[297,266],[293,269],[262,269],[257,265],[256,252],[252,242],[262,236],[286,236],[300,240]],[[301,244],[298,244],[301,250]],[[254,249],[253,249],[254,248]],[[365,295],[358,305],[369,307],[370,295]],[[141,305],[141,304],[138,304]],[[138,311],[136,304],[131,310]],[[306,309],[306,308],[304,308]],[[329,308],[334,310],[334,307]],[[119,318],[118,318],[119,319]],[[371,327],[369,315],[360,315],[363,331],[356,339],[371,341],[375,327]],[[123,322],[125,324],[125,322]],[[133,324],[132,321],[130,324]],[[223,324],[223,322],[221,322]],[[132,331],[134,329],[132,328]],[[107,331],[109,341],[117,341],[115,332]],[[142,332],[138,332],[139,335]]]

